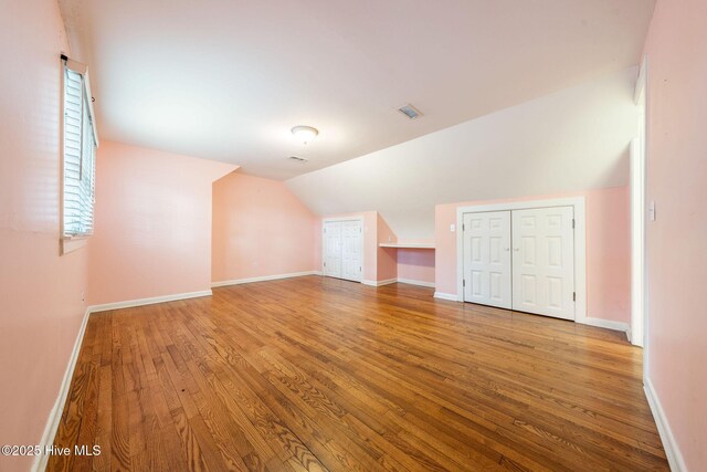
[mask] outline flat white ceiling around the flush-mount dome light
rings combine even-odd
[[[634,65],[654,3],[60,0],[103,139],[275,179]]]

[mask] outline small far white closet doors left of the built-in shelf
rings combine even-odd
[[[324,223],[324,275],[360,282],[363,275],[362,222],[326,221]]]

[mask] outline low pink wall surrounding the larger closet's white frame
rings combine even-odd
[[[630,202],[625,187],[523,199],[474,201],[435,207],[435,290],[456,294],[457,207],[523,200],[585,197],[587,206],[587,316],[631,321]]]

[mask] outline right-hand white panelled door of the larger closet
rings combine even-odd
[[[573,208],[513,211],[513,310],[574,319]]]

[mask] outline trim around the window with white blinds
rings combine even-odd
[[[65,87],[66,87],[66,78],[65,78],[65,72],[64,69],[68,69],[73,72],[76,72],[78,74],[81,74],[83,76],[83,88],[84,88],[84,93],[85,96],[88,97],[88,99],[85,101],[87,108],[88,108],[88,116],[91,119],[91,129],[93,133],[93,139],[96,144],[96,149],[99,146],[99,140],[98,140],[98,130],[96,127],[96,119],[95,119],[95,113],[94,113],[94,108],[93,108],[93,95],[91,93],[91,77],[88,74],[88,67],[85,64],[82,64],[77,61],[74,61],[70,57],[67,57],[65,54],[61,54],[61,66],[59,67],[60,71],[60,75],[61,75],[61,106],[60,106],[60,145],[59,145],[59,155],[60,155],[60,198],[59,198],[59,234],[60,234],[60,247],[61,247],[61,254],[67,254],[70,252],[76,251],[83,247],[86,245],[88,238],[91,238],[93,235],[93,230],[91,233],[87,234],[65,234],[64,233],[64,182],[65,182],[65,176],[64,176],[64,158],[65,158],[65,150],[64,150],[64,138],[65,138],[65,132],[64,132],[64,126],[65,126],[65,112],[64,112],[64,94],[65,94]],[[94,156],[94,166],[95,166],[95,156]],[[94,172],[95,172],[95,167],[94,167]],[[94,180],[94,186],[95,186],[95,180]],[[95,214],[95,207],[94,207],[94,214]]]

